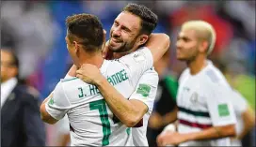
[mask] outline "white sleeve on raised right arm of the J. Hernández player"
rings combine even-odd
[[[133,83],[138,81],[142,74],[150,69],[153,64],[152,51],[147,47],[142,47],[137,51],[120,58],[120,63],[129,70],[129,77]]]

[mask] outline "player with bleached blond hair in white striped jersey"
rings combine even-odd
[[[179,80],[177,96],[178,132],[158,137],[158,145],[229,146],[235,135],[232,88],[222,73],[207,60],[216,32],[203,21],[184,22],[176,56],[187,68]]]

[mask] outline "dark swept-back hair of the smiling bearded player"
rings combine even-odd
[[[150,35],[157,25],[157,15],[148,7],[137,4],[128,4],[126,7],[123,7],[122,11],[130,12],[141,19],[140,34]]]

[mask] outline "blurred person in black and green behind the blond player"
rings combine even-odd
[[[159,83],[154,108],[149,120],[147,138],[149,146],[156,145],[156,137],[163,131],[164,127],[176,120],[176,95],[178,90],[178,81],[168,70],[169,52],[155,63],[154,67],[159,75]]]

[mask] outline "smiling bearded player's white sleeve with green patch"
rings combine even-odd
[[[146,71],[139,79],[136,85],[136,91],[130,96],[130,99],[137,99],[148,106],[149,112],[152,112],[153,102],[156,96],[158,85],[158,74],[155,70]]]

